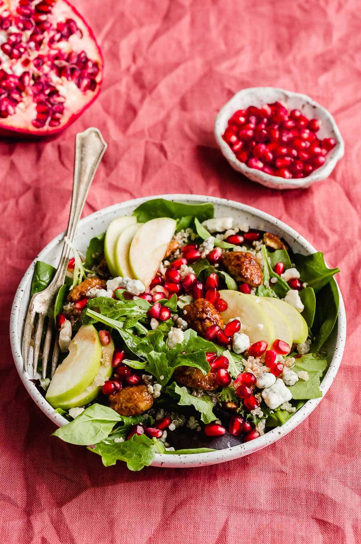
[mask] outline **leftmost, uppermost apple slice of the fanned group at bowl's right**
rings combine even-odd
[[[246,327],[242,332],[249,336],[251,344],[259,340],[265,340],[268,345],[273,344],[276,336],[272,321],[262,306],[255,301],[256,297],[232,290],[222,290],[219,294],[228,304],[227,310],[221,312],[225,324],[230,319],[239,317],[242,325]]]

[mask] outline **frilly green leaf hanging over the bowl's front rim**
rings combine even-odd
[[[156,444],[144,434],[133,435],[130,440],[126,440],[128,432],[129,429],[117,430],[97,443],[94,449],[89,449],[101,455],[103,465],[106,467],[115,465],[119,460],[125,461],[131,471],[140,471],[143,467],[148,467],[154,459]]]

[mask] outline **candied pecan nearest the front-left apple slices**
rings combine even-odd
[[[111,408],[121,416],[139,416],[153,405],[153,397],[148,393],[146,385],[124,387],[117,393],[109,395]]]

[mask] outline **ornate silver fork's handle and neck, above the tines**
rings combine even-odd
[[[68,228],[66,230],[66,236],[70,242],[74,240],[91,182],[106,149],[107,144],[97,128],[87,128],[86,131],[78,133],[75,137],[74,181]],[[64,243],[54,283],[64,282],[69,255],[69,245]]]

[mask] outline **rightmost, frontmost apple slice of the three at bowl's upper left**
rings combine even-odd
[[[148,288],[154,278],[176,229],[176,221],[169,217],[151,219],[134,234],[129,250],[129,264],[133,277]]]

